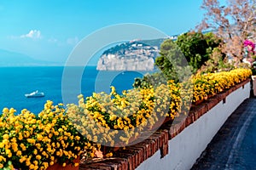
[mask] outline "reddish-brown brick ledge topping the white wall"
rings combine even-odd
[[[211,99],[202,102],[200,105],[192,105],[189,115],[186,117],[178,117],[174,122],[166,122],[148,139],[143,142],[126,147],[125,150],[118,150],[116,157],[106,159],[96,159],[94,161],[80,162],[80,170],[133,170],[138,167],[143,161],[153,156],[160,150],[161,158],[168,154],[168,140],[181,133],[185,127],[199,119],[202,115],[211,110],[212,107],[218,105],[219,102],[231,94],[238,88],[250,82],[247,79],[244,82],[237,84],[235,87],[224,91],[221,94],[216,94]],[[143,137],[142,137],[143,138]]]

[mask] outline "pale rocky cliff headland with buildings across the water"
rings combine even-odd
[[[121,43],[106,50],[97,63],[100,71],[153,71],[154,59],[159,55],[158,39],[151,45],[146,41],[131,41]]]

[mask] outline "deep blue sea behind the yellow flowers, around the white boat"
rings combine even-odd
[[[114,86],[118,93],[132,88],[135,77],[143,77],[143,71],[96,71],[96,66],[82,68],[82,77],[77,79],[66,77],[71,88],[62,89],[64,67],[1,67],[0,68],[0,109],[4,107],[15,108],[17,113],[27,109],[38,114],[44,109],[46,100],[52,100],[55,105],[62,103],[62,90],[68,91],[71,100],[69,103],[78,103],[77,96],[84,94],[90,96],[93,92],[105,91],[109,93],[110,86]],[[73,73],[81,71],[81,67],[73,67]],[[79,83],[79,84],[76,84]],[[67,86],[66,86],[67,87]],[[79,87],[81,90],[73,89]],[[44,92],[42,98],[26,98],[38,90]],[[66,101],[66,100],[65,100]],[[67,103],[65,103],[67,104]]]

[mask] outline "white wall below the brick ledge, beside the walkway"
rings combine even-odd
[[[218,130],[233,111],[250,96],[250,82],[244,88],[238,88],[197,121],[186,127],[182,133],[169,140],[169,153],[160,159],[160,150],[154,156],[143,161],[137,170],[187,170],[190,169],[201,152],[207,148]]]

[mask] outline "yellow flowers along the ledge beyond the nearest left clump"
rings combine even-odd
[[[116,146],[129,144],[140,133],[152,129],[160,119],[174,120],[180,113],[186,115],[191,100],[207,99],[229,89],[250,77],[250,71],[237,69],[206,75],[196,75],[186,82],[146,88],[133,88],[117,94],[92,94],[79,105],[68,105],[67,115],[86,139],[94,143]]]

